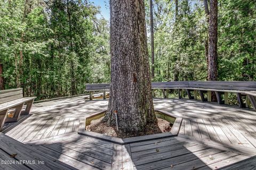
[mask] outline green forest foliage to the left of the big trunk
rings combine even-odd
[[[82,94],[86,83],[109,80],[109,25],[96,18],[97,7],[78,0],[0,5],[5,89],[21,87],[44,99]]]

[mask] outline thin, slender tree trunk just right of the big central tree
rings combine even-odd
[[[150,36],[151,36],[151,73],[152,78],[155,77],[155,47],[154,47],[154,22],[153,22],[153,2],[149,0],[150,6]]]

